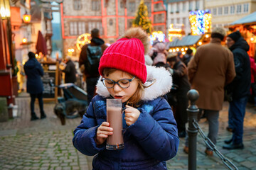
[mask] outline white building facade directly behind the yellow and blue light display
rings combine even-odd
[[[183,24],[186,35],[191,33],[189,13],[205,9],[203,0],[169,0],[167,4],[166,26],[169,28],[170,24],[173,24],[174,27]]]

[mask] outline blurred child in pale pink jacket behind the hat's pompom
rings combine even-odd
[[[148,55],[153,60],[153,65],[156,67],[165,67],[166,65],[166,45],[164,42],[156,41],[153,43],[153,46],[149,50]]]

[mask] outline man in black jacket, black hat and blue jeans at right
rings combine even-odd
[[[247,55],[250,47],[239,31],[228,35],[227,45],[234,55],[236,76],[227,87],[232,96],[228,110],[228,125],[233,130],[233,136],[230,140],[224,141],[226,145],[223,145],[223,148],[242,149],[245,106],[250,96],[250,58]]]

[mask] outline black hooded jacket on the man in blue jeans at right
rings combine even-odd
[[[247,51],[250,46],[242,37],[230,47],[234,55],[235,79],[228,85],[233,99],[239,99],[250,95],[250,57]]]

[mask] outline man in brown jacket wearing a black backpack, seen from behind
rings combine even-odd
[[[94,28],[91,31],[92,40],[90,42],[90,45],[93,46],[100,46],[102,49],[102,54],[104,50],[107,48],[107,45],[105,45],[104,40],[100,38],[100,31],[97,28]],[[87,72],[87,69],[85,69],[85,65],[89,62],[87,57],[87,48],[88,45],[84,45],[82,47],[80,57],[79,57],[79,67],[81,72],[84,72],[86,77],[86,87],[87,87],[87,98],[88,103],[92,100],[92,97],[95,96],[95,87],[97,84],[97,80],[100,77],[99,72],[93,72],[89,73]]]

